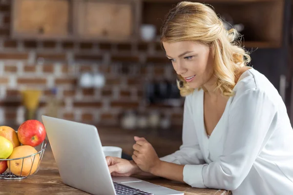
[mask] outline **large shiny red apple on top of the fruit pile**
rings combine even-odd
[[[39,120],[26,120],[18,128],[17,135],[23,145],[35,147],[46,138],[46,131]]]

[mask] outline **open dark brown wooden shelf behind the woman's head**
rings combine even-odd
[[[193,0],[194,1],[194,0]],[[196,0],[198,1],[198,0]],[[233,24],[243,24],[246,47],[278,48],[283,39],[284,0],[199,0],[213,6],[221,17]],[[153,24],[157,35],[168,11],[178,0],[144,0],[142,23]],[[227,2],[227,3],[226,3]],[[239,5],[241,3],[241,5]]]

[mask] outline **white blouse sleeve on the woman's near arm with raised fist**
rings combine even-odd
[[[204,165],[185,165],[184,181],[197,188],[237,189],[276,125],[276,107],[262,91],[250,89],[230,105],[223,156]]]

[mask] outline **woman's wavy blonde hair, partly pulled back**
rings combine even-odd
[[[207,44],[213,48],[216,90],[219,89],[224,96],[232,96],[240,68],[251,61],[248,52],[241,47],[238,32],[235,29],[227,31],[221,18],[208,5],[183,1],[167,14],[161,27],[161,45],[163,42],[183,40]],[[177,86],[181,96],[185,97],[194,91],[184,78],[180,75],[178,78]]]

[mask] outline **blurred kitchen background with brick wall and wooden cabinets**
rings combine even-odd
[[[291,0],[196,1],[243,35],[293,117]],[[159,41],[177,2],[0,0],[0,123],[46,114],[180,141],[184,98]]]

